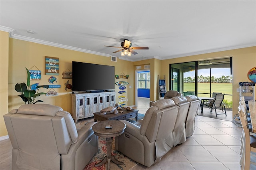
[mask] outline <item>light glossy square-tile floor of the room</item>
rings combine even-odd
[[[148,101],[138,104],[138,109],[149,107]],[[242,128],[232,121],[196,116],[196,130],[186,142],[172,148],[150,168],[137,164],[132,170],[240,170],[241,134]],[[10,140],[0,141],[0,146],[0,169],[11,170]],[[255,158],[251,160],[255,162]],[[255,170],[256,166],[251,164],[250,169]]]

